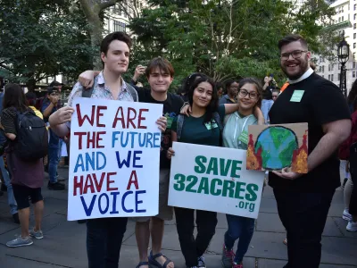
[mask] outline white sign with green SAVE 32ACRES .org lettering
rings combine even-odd
[[[174,142],[169,205],[256,219],[264,172],[247,171],[246,151]]]

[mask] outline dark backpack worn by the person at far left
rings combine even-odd
[[[48,131],[45,121],[32,110],[16,111],[16,139],[12,148],[16,156],[24,161],[35,161],[47,155]]]

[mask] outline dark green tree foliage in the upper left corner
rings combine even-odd
[[[0,0],[0,67],[34,89],[39,80],[75,78],[91,68],[87,21],[71,0]]]

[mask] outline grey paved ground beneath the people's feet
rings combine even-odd
[[[60,169],[59,172],[67,178],[67,169]],[[36,240],[34,245],[21,248],[5,247],[6,241],[21,232],[19,225],[12,223],[6,198],[0,197],[0,267],[87,267],[86,226],[66,221],[67,192],[43,188],[43,194],[46,202],[43,220],[45,239]],[[357,267],[357,233],[345,230],[346,222],[341,219],[343,209],[342,191],[337,190],[323,234],[321,268]],[[221,267],[220,251],[226,228],[225,217],[220,214],[216,234],[205,255],[210,268]],[[245,268],[275,268],[286,264],[283,239],[285,230],[278,219],[275,199],[271,188],[266,188],[251,247],[245,257]],[[164,254],[170,256],[176,267],[185,267],[174,221],[166,223],[163,247]],[[135,267],[136,264],[134,222],[129,221],[121,247],[120,267]]]

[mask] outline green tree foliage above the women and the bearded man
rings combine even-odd
[[[319,54],[334,42],[334,33],[323,31],[333,9],[323,0],[310,2],[296,12],[281,0],[149,0],[129,25],[137,37],[132,63],[167,57],[177,81],[202,71],[214,80],[273,72],[282,82],[278,39],[301,33]]]

